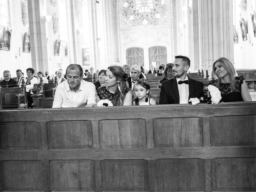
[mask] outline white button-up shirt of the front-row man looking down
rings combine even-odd
[[[90,103],[96,103],[95,85],[81,80],[77,92],[70,90],[68,81],[64,81],[56,88],[52,108],[79,107]]]

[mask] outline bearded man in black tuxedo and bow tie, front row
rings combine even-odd
[[[204,95],[204,84],[187,76],[189,67],[188,57],[175,56],[172,66],[174,78],[162,82],[159,104],[186,104],[190,98]]]

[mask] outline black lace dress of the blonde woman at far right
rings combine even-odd
[[[230,83],[220,83],[218,87],[221,93],[220,102],[242,101],[241,86],[244,81],[242,77],[235,77],[235,89],[230,88]],[[216,86],[217,80],[212,80],[209,85]]]

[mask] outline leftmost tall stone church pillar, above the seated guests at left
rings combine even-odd
[[[44,0],[28,0],[32,68],[42,72],[48,70],[44,5]]]

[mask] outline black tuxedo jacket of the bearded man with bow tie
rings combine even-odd
[[[200,98],[204,95],[204,84],[188,77],[190,98]],[[159,104],[180,104],[180,95],[176,78],[162,82]]]

